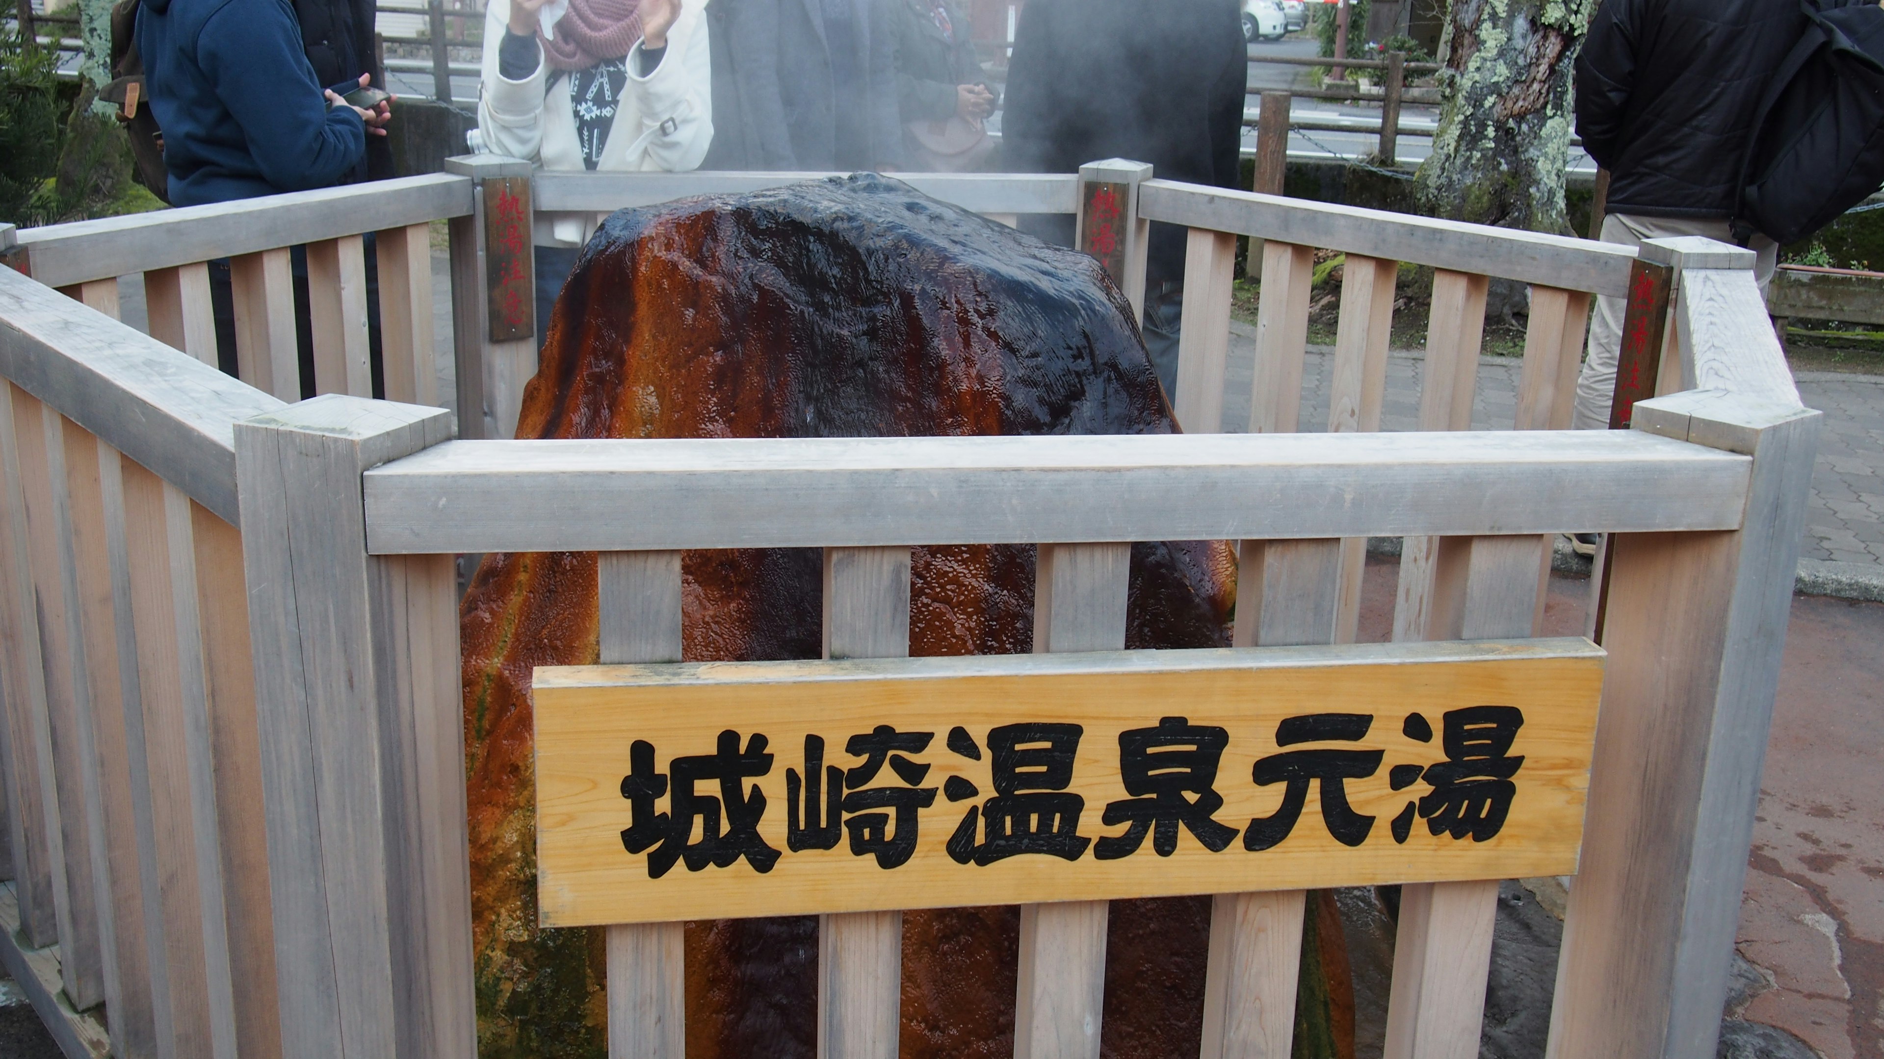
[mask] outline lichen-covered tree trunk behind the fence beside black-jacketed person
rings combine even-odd
[[[1415,194],[1434,217],[1571,234],[1571,70],[1598,0],[1453,0],[1447,87]]]

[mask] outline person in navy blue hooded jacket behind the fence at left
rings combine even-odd
[[[143,0],[138,51],[173,205],[337,185],[386,134],[322,90],[286,0]]]

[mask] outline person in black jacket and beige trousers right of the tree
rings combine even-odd
[[[1577,58],[1577,134],[1609,170],[1603,241],[1731,243],[1754,111],[1807,21],[1794,0],[1603,0]],[[1778,247],[1754,236],[1762,290]],[[1579,430],[1605,430],[1622,298],[1598,298],[1577,381]]]

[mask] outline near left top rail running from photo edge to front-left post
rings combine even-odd
[[[6,268],[0,373],[232,526],[234,424],[284,407]]]

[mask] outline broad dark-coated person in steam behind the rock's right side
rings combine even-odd
[[[1249,60],[1236,0],[1029,0],[1014,32],[1002,111],[1006,168],[1076,173],[1151,162],[1153,175],[1236,187]],[[1029,230],[1072,243],[1072,219]],[[1185,232],[1151,226],[1145,347],[1178,383]]]

